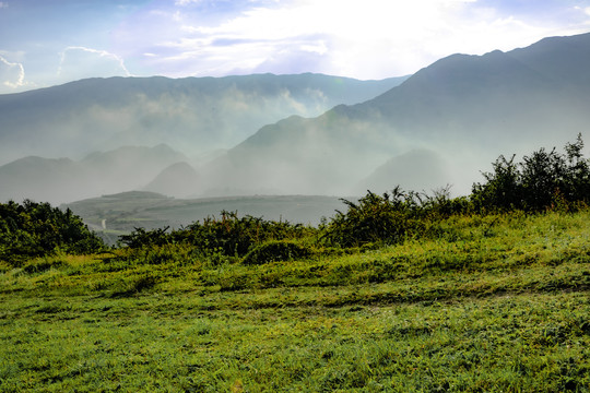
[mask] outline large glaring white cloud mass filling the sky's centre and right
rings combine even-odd
[[[157,43],[166,55],[150,60],[161,70],[174,63],[176,75],[252,69],[280,73],[278,58],[296,61],[296,53],[308,52],[316,58],[306,56],[306,61],[317,67],[308,71],[386,78],[415,72],[455,52],[527,46],[555,31],[476,0],[252,2],[213,25],[189,12],[175,15],[176,36]],[[260,69],[264,64],[273,69]],[[284,70],[291,69],[285,63]]]

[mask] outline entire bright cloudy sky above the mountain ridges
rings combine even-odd
[[[590,32],[590,0],[0,0],[0,94],[107,76],[379,80]]]

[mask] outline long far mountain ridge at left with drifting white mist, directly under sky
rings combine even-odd
[[[87,79],[0,95],[0,165],[23,156],[80,158],[166,143],[187,155],[229,148],[291,115],[373,98],[405,78],[322,74]]]

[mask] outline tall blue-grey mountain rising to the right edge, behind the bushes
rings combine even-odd
[[[447,170],[437,183],[414,183],[465,193],[499,154],[563,146],[588,132],[589,102],[590,34],[452,55],[365,103],[266,126],[203,172],[211,184],[347,194],[392,157],[426,148]],[[394,172],[380,178],[375,191],[400,180]]]

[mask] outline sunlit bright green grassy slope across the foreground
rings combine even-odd
[[[442,226],[260,266],[177,248],[4,266],[0,391],[588,392],[590,213]]]

